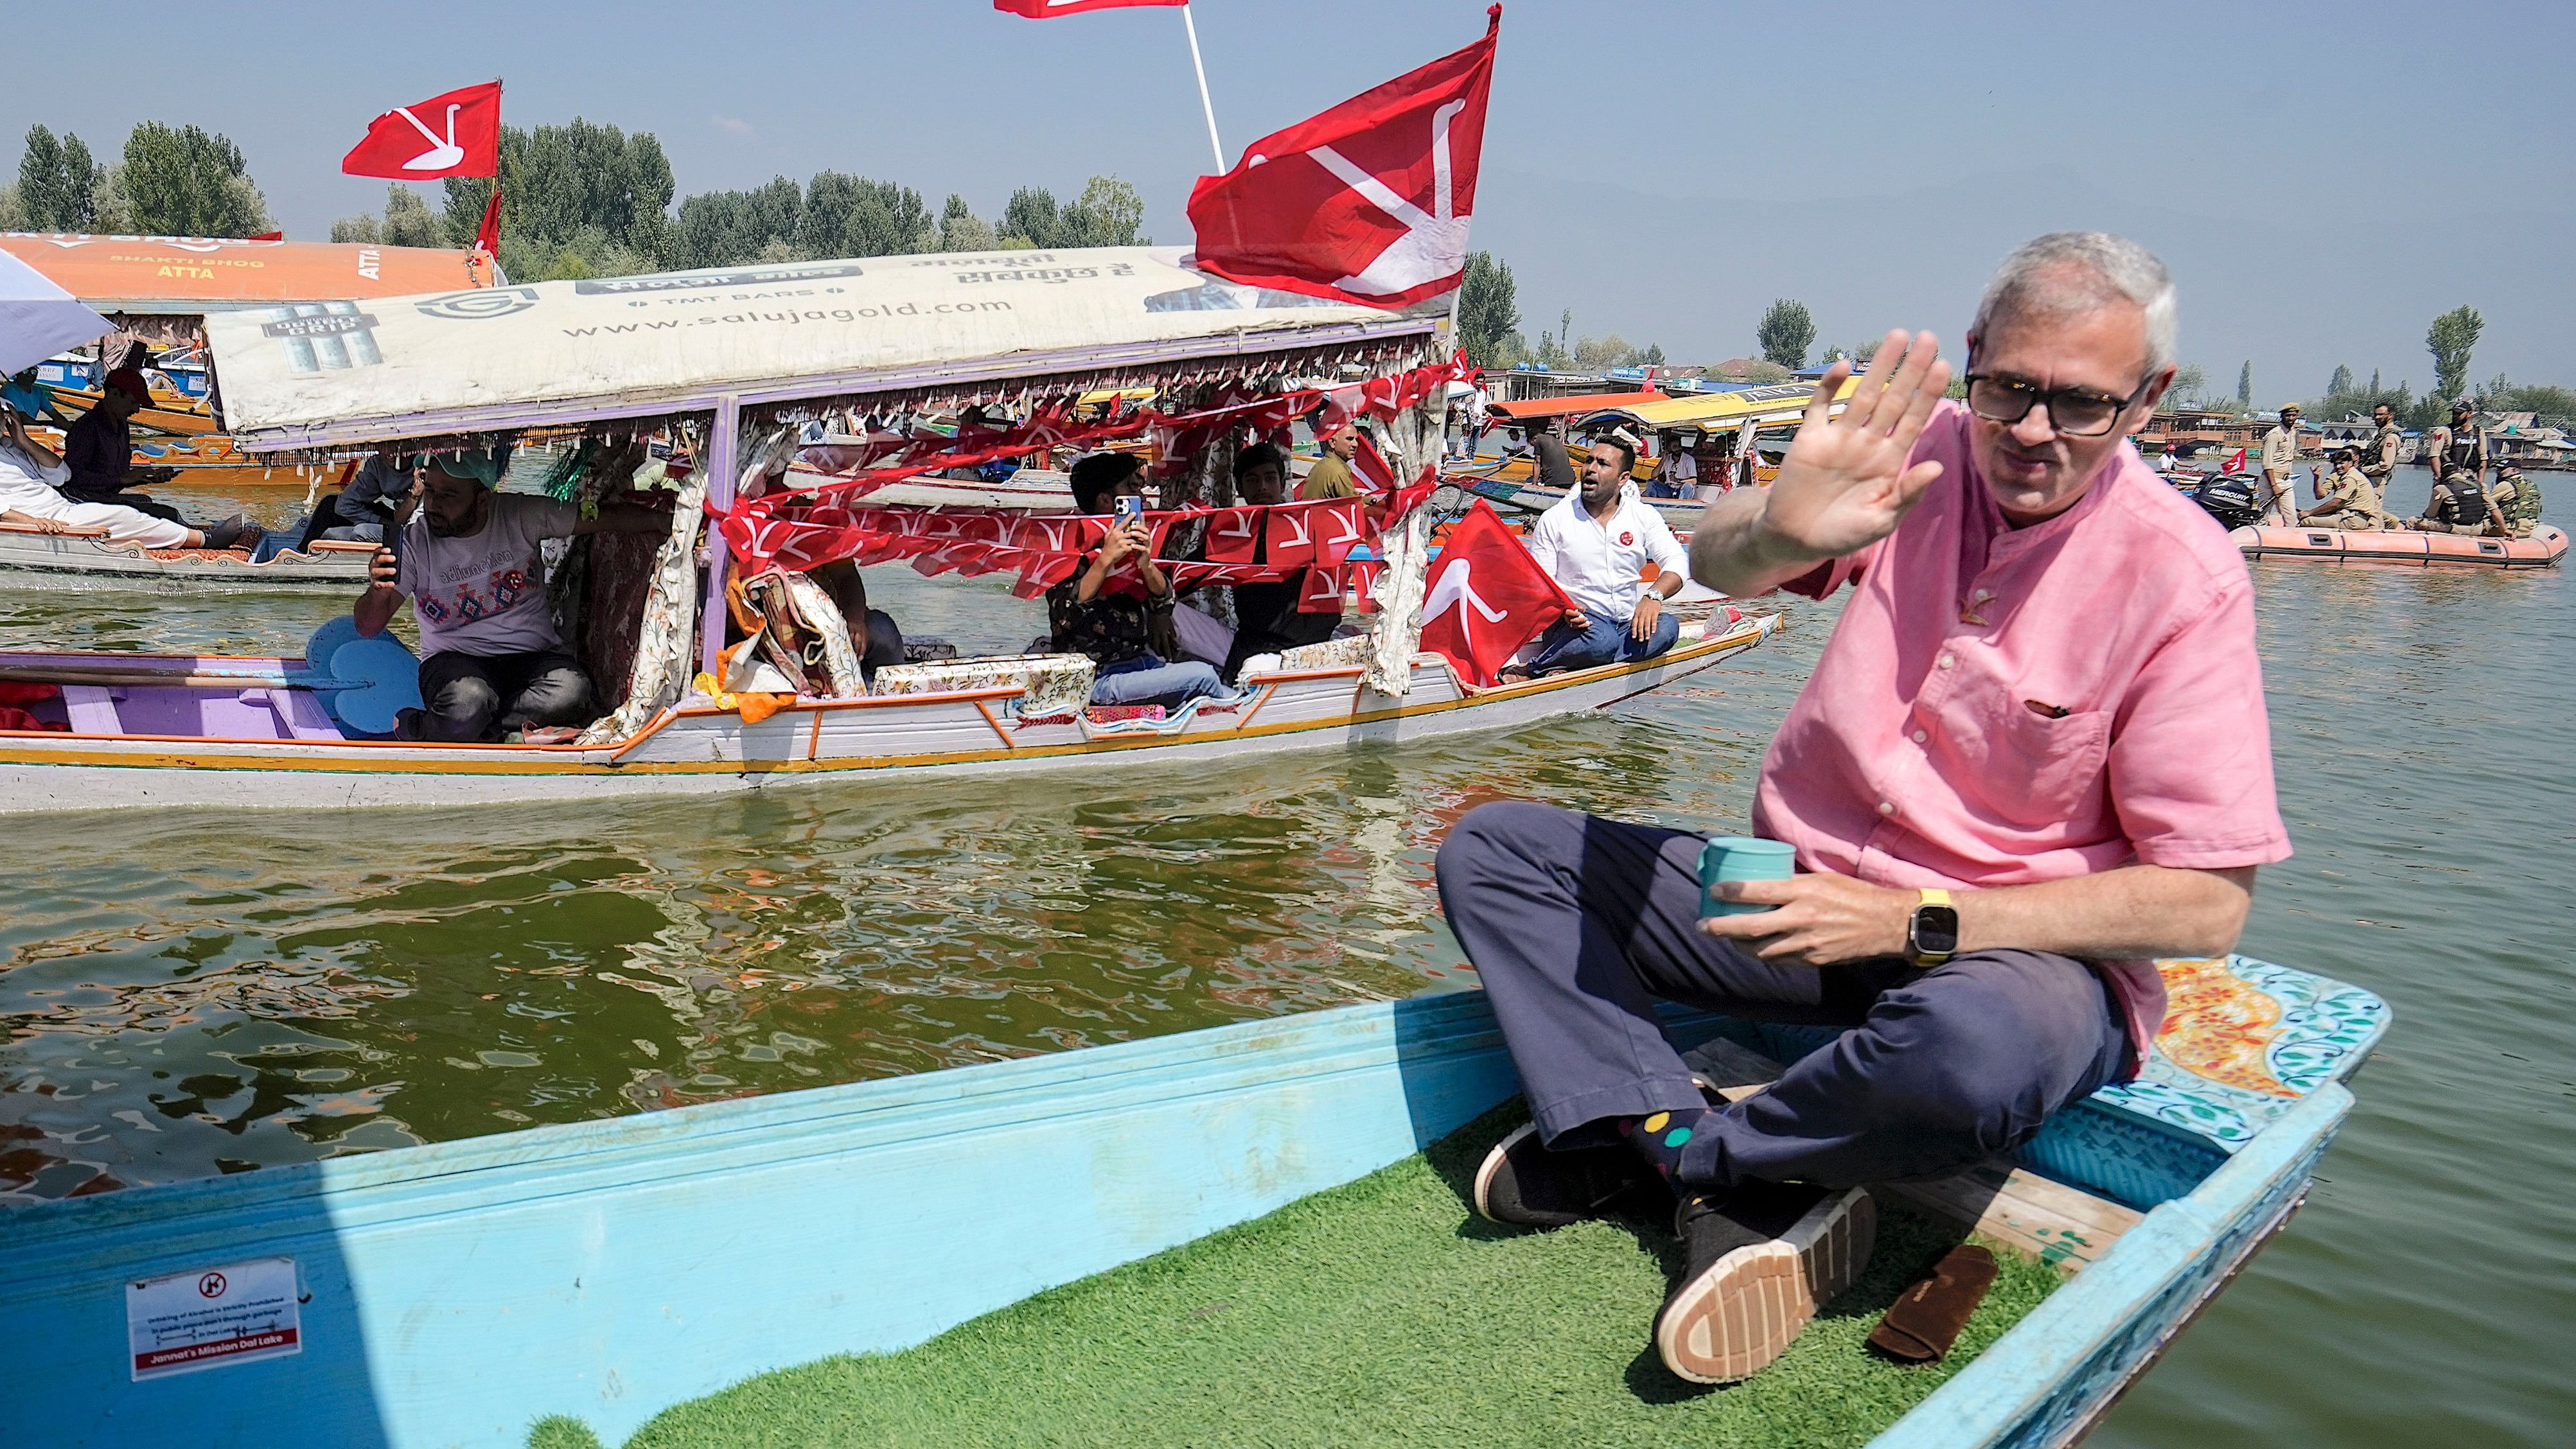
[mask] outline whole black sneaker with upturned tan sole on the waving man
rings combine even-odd
[[[1870,1194],[1775,1181],[1685,1197],[1682,1282],[1654,1315],[1654,1351],[1695,1385],[1731,1385],[1777,1359],[1816,1310],[1870,1266]]]

